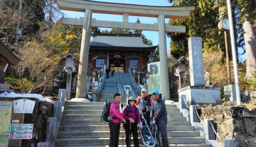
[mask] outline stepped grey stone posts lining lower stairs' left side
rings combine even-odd
[[[59,89],[59,99],[54,101],[53,117],[47,118],[45,142],[37,143],[37,147],[54,147],[57,133],[60,129],[60,121],[65,108],[66,90]]]

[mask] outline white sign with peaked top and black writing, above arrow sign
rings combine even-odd
[[[33,113],[36,101],[20,99],[13,101],[14,113]]]

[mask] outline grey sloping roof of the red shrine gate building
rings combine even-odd
[[[140,34],[94,33],[90,39],[90,47],[98,48],[138,48],[156,49],[157,46],[145,45]]]

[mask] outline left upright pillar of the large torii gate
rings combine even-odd
[[[82,33],[82,42],[79,58],[78,78],[76,86],[76,98],[84,98],[85,94],[85,83],[88,66],[88,55],[90,45],[90,33],[91,33],[91,21],[92,21],[92,10],[86,9],[84,12],[84,25]]]

